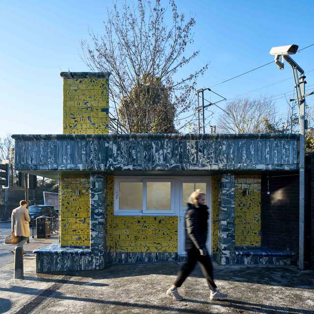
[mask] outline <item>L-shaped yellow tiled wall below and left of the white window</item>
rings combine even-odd
[[[178,252],[178,217],[115,216],[113,180],[107,177],[107,251]]]

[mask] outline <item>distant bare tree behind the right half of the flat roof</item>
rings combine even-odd
[[[229,102],[218,120],[221,133],[269,133],[277,127],[275,106],[270,98],[238,98]]]

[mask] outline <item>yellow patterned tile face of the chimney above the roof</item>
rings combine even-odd
[[[108,78],[63,78],[63,134],[108,134]]]

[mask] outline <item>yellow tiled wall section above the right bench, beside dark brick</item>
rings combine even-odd
[[[235,176],[235,246],[261,246],[261,176]]]

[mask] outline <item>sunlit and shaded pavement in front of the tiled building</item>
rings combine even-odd
[[[56,235],[27,245],[35,249],[55,239]],[[179,289],[185,299],[178,302],[165,292],[181,264],[111,265],[98,271],[36,275],[35,256],[28,254],[24,279],[13,279],[13,263],[0,267],[0,313],[13,314],[28,306],[23,313],[314,314],[314,271],[215,264],[215,282],[229,300],[210,301],[205,279],[196,268]]]

